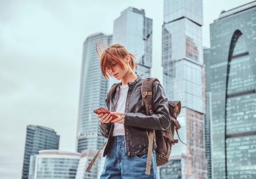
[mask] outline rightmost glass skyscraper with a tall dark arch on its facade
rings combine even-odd
[[[256,178],[256,1],[210,24],[206,58],[212,178]]]

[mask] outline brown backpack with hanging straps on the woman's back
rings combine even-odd
[[[151,115],[154,113],[153,111],[153,96],[152,96],[152,85],[155,81],[159,80],[157,78],[146,78],[142,82],[141,85],[141,96],[142,96],[142,105],[145,106],[146,115]],[[107,95],[107,105],[109,105],[109,101],[112,97],[112,94],[115,92],[119,83],[115,83],[108,95]],[[108,106],[109,107],[109,106]],[[169,162],[170,152],[172,150],[172,146],[175,143],[178,143],[178,140],[174,139],[174,133],[176,131],[178,138],[180,140],[180,136],[178,133],[178,129],[181,128],[179,122],[177,121],[177,117],[180,114],[181,110],[181,102],[180,101],[168,101],[169,108],[169,116],[170,116],[170,126],[166,130],[149,130],[148,137],[148,152],[147,152],[147,164],[146,164],[146,172],[145,174],[150,174],[151,170],[151,161],[152,161],[152,150],[153,150],[153,138],[156,140],[157,148],[156,151],[156,159],[157,166],[161,166],[167,164]],[[181,140],[180,140],[181,141]],[[181,141],[182,142],[182,141]],[[183,142],[182,142],[183,143]],[[185,143],[183,143],[185,144]],[[100,153],[100,150],[106,145],[106,142],[100,147],[93,160],[89,164],[87,168],[87,172],[90,171],[93,163],[97,159],[97,156]],[[186,145],[186,144],[185,144]]]

